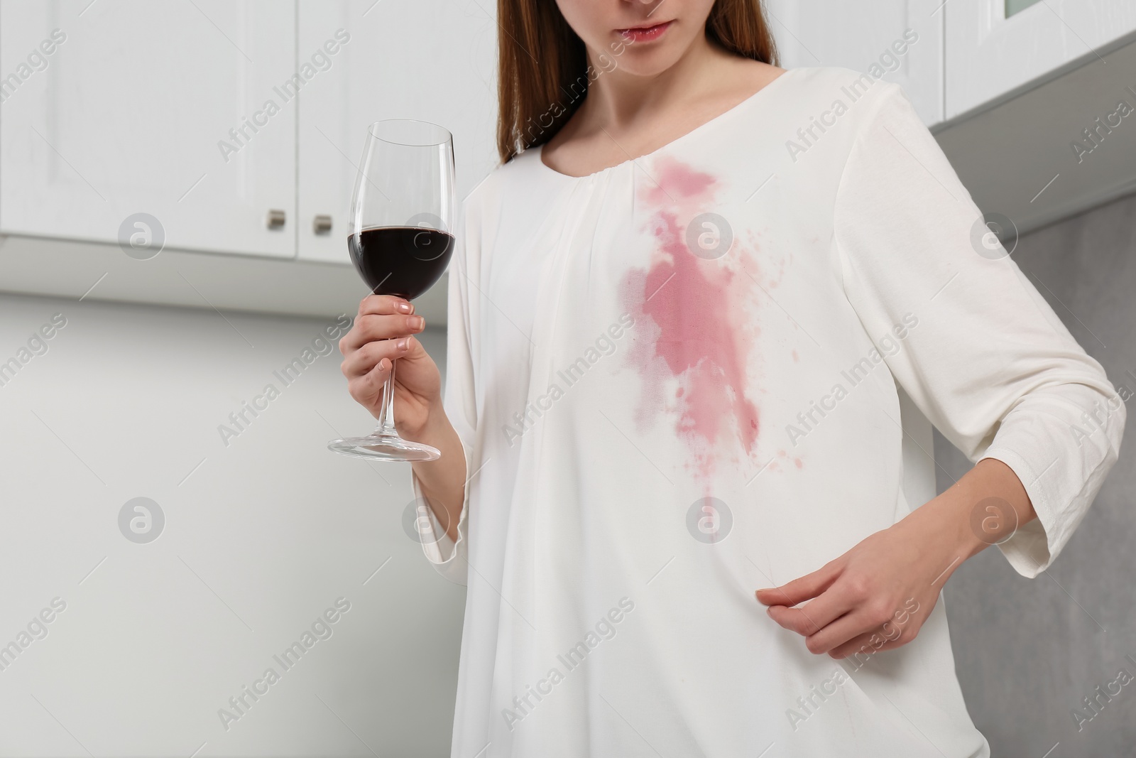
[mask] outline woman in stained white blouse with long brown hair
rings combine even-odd
[[[778,68],[758,0],[499,7],[444,401],[410,303],[341,345],[442,450],[452,755],[987,756],[938,593],[1064,545],[1124,426],[1101,366],[900,88]],[[897,388],[977,463],[925,505]]]

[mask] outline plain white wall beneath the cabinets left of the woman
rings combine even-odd
[[[66,609],[0,658],[0,755],[449,755],[465,589],[403,532],[408,468],[326,449],[374,424],[337,349],[273,374],[334,322],[5,294],[0,363],[53,314],[0,386],[0,645]],[[443,358],[443,334],[424,342]],[[147,544],[118,526],[136,497],[166,518]],[[332,636],[285,670],[274,653],[337,598]],[[268,667],[226,731],[218,709]]]

